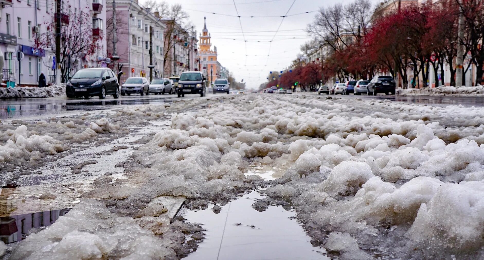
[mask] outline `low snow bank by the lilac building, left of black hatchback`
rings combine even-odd
[[[45,88],[38,87],[15,87],[1,88],[0,99],[5,98],[43,98],[65,95],[65,85],[50,85]]]

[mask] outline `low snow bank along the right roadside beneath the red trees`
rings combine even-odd
[[[423,89],[397,89],[398,96],[484,96],[484,86],[437,87]]]

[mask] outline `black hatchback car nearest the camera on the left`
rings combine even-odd
[[[65,92],[70,98],[99,96],[104,99],[106,95],[118,98],[119,86],[118,79],[109,68],[82,69],[67,82]]]

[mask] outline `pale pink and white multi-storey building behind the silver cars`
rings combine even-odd
[[[163,75],[163,32],[165,24],[159,15],[143,9],[137,0],[115,0],[116,31],[113,24],[113,2],[107,3],[107,53],[112,57],[114,52],[113,38],[116,39],[116,55],[120,58],[112,68],[118,73],[122,66],[122,83],[130,76],[150,78],[150,65],[153,66],[153,78]],[[150,39],[150,33],[151,39]],[[116,36],[115,36],[116,34]],[[152,46],[152,47],[151,47]],[[152,48],[152,64],[150,64]],[[118,64],[120,66],[118,66]]]

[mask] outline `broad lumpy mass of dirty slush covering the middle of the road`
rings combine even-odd
[[[484,254],[484,108],[269,94],[147,107],[110,117],[173,113],[168,129],[120,164],[128,179],[96,179],[69,214],[8,249],[9,259],[181,258],[203,230],[170,224],[151,200],[222,203],[262,184],[243,174],[258,163],[287,168],[265,193],[291,200],[304,228],[338,259]],[[57,149],[47,141],[42,151]]]

